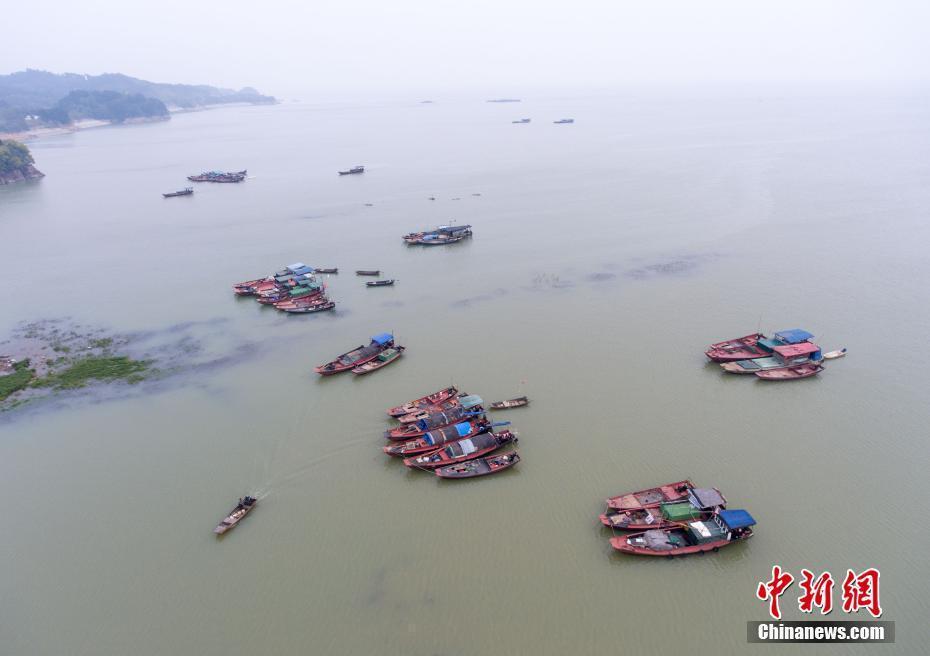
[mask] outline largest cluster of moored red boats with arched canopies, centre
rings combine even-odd
[[[492,403],[491,409],[524,406],[526,397]],[[492,423],[480,396],[459,392],[455,386],[390,408],[400,425],[384,431],[389,456],[404,459],[411,469],[432,471],[440,478],[475,478],[496,474],[520,462],[516,451],[496,453],[517,443],[509,431],[494,431],[510,422]]]

